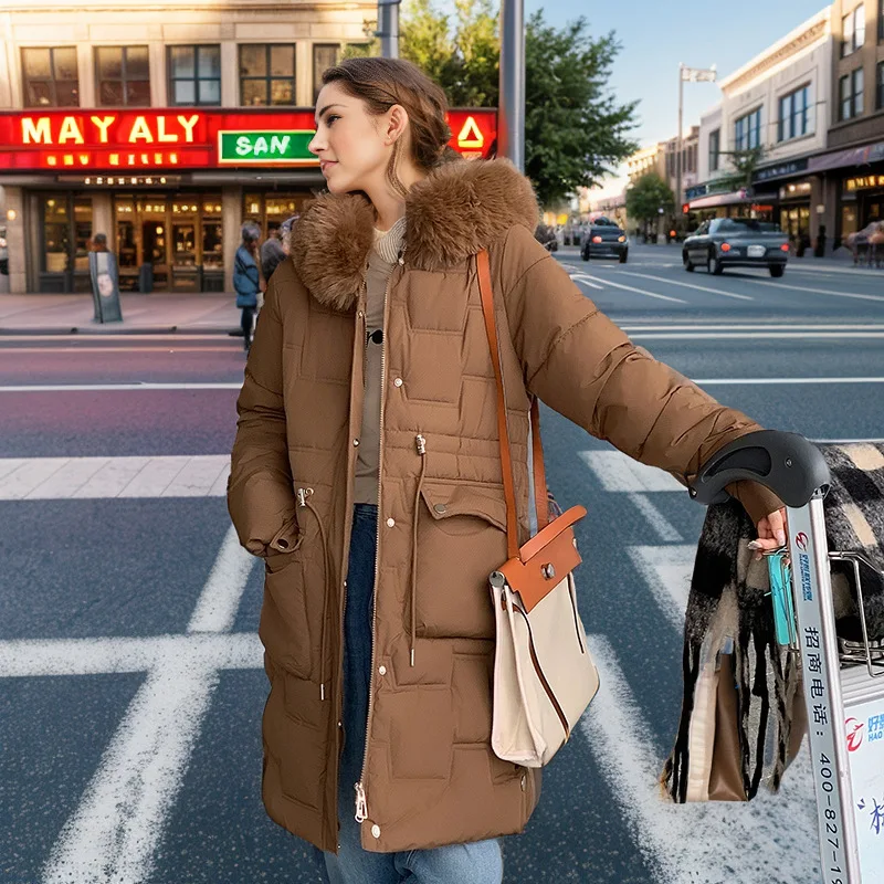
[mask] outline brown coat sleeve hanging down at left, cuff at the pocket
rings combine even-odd
[[[228,481],[231,519],[240,543],[255,556],[291,551],[298,535],[282,358],[278,291],[271,283],[236,400],[239,420]]]

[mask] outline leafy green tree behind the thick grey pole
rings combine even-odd
[[[562,29],[536,12],[525,32],[525,171],[544,206],[597,183],[638,145],[629,137],[638,102],[608,92],[620,50],[613,34],[593,40],[586,19]],[[403,10],[402,57],[445,90],[453,107],[496,107],[499,36],[492,0],[455,0],[455,28],[432,0]]]

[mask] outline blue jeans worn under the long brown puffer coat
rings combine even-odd
[[[338,783],[340,846],[337,855],[324,854],[328,880],[330,884],[501,884],[504,864],[497,839],[400,853],[362,850],[359,823],[355,819],[354,785],[362,772],[366,746],[377,524],[377,506],[356,505],[344,613],[345,741]]]

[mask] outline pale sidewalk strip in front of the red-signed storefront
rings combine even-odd
[[[239,330],[234,294],[123,294],[122,323],[93,322],[92,295],[0,295],[3,335],[227,335]]]

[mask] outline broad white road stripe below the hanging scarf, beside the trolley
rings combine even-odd
[[[602,635],[589,635],[587,641],[601,686],[579,728],[630,825],[634,844],[655,870],[655,884],[819,881],[807,751],[789,769],[778,796],[759,792],[748,803],[676,806],[664,801],[659,786],[663,758],[614,651]],[[654,673],[648,676],[653,678]]]

